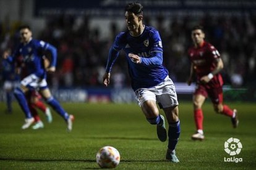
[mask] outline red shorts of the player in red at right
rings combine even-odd
[[[195,95],[201,94],[204,97],[210,97],[211,102],[215,104],[219,104],[223,102],[223,89],[222,87],[215,87],[215,88],[210,88],[210,87],[205,87],[203,84],[197,84],[195,87]]]

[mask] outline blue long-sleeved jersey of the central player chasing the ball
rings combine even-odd
[[[139,36],[132,36],[129,31],[119,33],[109,50],[107,73],[111,71],[118,56],[118,51],[121,49],[126,52],[129,75],[134,91],[139,88],[156,86],[168,76],[168,70],[162,65],[162,41],[155,28],[145,26]],[[141,63],[133,62],[128,56],[129,53],[139,55]]]

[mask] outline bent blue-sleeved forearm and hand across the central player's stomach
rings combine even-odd
[[[151,57],[143,58],[135,54],[128,55],[130,59],[135,63],[141,63],[142,65],[161,65],[163,63],[162,52],[151,52]]]

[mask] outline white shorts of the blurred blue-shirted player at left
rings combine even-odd
[[[25,87],[28,87],[29,89],[31,89],[31,88],[43,89],[43,88],[47,87],[46,79],[38,78],[38,76],[36,76],[34,74],[29,75],[29,76],[25,77],[24,79],[22,79],[20,84],[22,84]]]

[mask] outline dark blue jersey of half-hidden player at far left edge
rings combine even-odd
[[[8,62],[8,60],[2,60],[2,79],[4,81],[18,81],[19,75],[15,73],[14,63]]]

